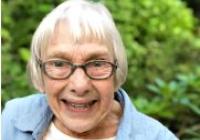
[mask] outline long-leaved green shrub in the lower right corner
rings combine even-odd
[[[181,130],[177,135],[200,138],[200,125],[197,123],[200,120],[199,87],[200,76],[194,74],[179,74],[168,83],[158,78],[154,84],[147,86],[155,97],[152,100],[139,97],[134,103],[143,112],[154,117],[159,114],[159,118],[170,120],[178,116],[176,127]]]

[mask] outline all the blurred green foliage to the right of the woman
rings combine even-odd
[[[124,88],[134,104],[180,138],[200,138],[200,27],[192,11],[180,0],[104,2],[127,48]]]

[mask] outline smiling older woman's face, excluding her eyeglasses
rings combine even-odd
[[[42,60],[64,59],[74,64],[91,60],[113,62],[113,52],[100,43],[73,44],[65,22],[57,25]],[[114,76],[90,79],[77,68],[67,79],[54,80],[43,75],[43,90],[55,115],[55,125],[64,133],[82,133],[100,126],[110,113],[114,100]]]

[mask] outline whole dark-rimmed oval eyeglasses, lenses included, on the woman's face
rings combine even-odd
[[[77,68],[82,68],[90,79],[103,80],[112,76],[117,69],[117,64],[116,61],[112,63],[105,60],[93,60],[76,65],[66,60],[55,59],[40,63],[40,67],[52,79],[67,79]]]

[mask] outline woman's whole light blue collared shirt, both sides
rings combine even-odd
[[[138,112],[122,89],[115,99],[123,107],[117,140],[177,140],[161,123]],[[52,118],[45,94],[11,100],[2,113],[2,140],[41,140]]]

